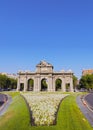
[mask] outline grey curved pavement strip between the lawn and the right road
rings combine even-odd
[[[85,115],[90,125],[93,127],[93,111],[91,111],[91,108],[88,106],[87,104],[88,102],[86,102],[85,99],[86,99],[86,96],[78,96],[76,101],[80,110]]]

